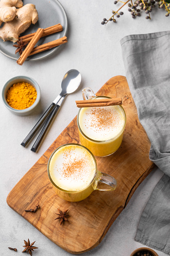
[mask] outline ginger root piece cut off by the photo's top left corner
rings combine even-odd
[[[0,2],[0,26],[3,22],[14,20],[17,8],[23,7],[22,0],[1,0]]]

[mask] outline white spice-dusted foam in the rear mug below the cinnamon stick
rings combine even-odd
[[[109,140],[122,130],[124,114],[120,106],[82,108],[79,125],[82,132],[94,140]]]

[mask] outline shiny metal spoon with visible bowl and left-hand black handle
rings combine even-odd
[[[49,117],[53,113],[53,116],[55,115],[56,107],[58,106],[57,103],[60,101],[62,97],[65,97],[68,94],[72,94],[77,90],[77,88],[80,86],[81,82],[81,74],[76,69],[69,70],[63,77],[61,88],[61,93],[57,96],[57,98],[53,101],[53,103],[50,105],[50,107],[46,110],[46,112],[42,115],[40,120],[37,122],[37,124],[33,127],[33,129],[30,131],[30,133],[27,135],[27,137],[23,140],[21,143],[22,146],[26,146],[28,142],[31,140],[33,135],[36,133],[36,131],[39,129],[41,124],[45,121],[47,117]],[[60,104],[61,105],[61,104]],[[34,150],[33,150],[34,151]]]

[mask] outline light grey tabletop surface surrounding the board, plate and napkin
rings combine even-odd
[[[1,100],[1,186],[0,186],[0,245],[1,255],[22,255],[24,239],[36,240],[39,249],[33,255],[71,255],[51,242],[24,218],[14,212],[6,203],[9,192],[25,173],[47,150],[63,129],[77,114],[75,100],[81,99],[81,90],[66,98],[64,105],[56,116],[53,126],[37,153],[31,146],[24,148],[22,140],[32,129],[38,118],[47,109],[61,91],[63,75],[72,68],[82,74],[81,88],[91,87],[97,92],[112,76],[125,75],[121,56],[120,39],[129,34],[144,34],[169,30],[170,18],[164,16],[163,10],[152,12],[153,19],[142,17],[133,20],[127,7],[117,24],[109,22],[101,25],[104,17],[111,16],[111,10],[118,6],[113,0],[61,0],[69,22],[68,43],[60,47],[52,57],[38,62],[25,62],[19,66],[3,54],[0,56],[1,90],[4,83],[16,75],[33,77],[41,87],[41,104],[34,114],[19,117],[3,105]],[[163,50],[163,49],[162,49]],[[105,238],[93,250],[84,255],[118,255],[129,256],[142,244],[134,241],[136,226],[140,214],[154,188],[162,176],[155,169],[138,187],[126,209],[115,220]],[[10,251],[9,246],[17,247],[18,252]],[[156,251],[159,256],[166,254]]]

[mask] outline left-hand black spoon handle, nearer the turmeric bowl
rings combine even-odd
[[[23,142],[21,143],[22,146],[26,146],[28,144],[28,142],[31,140],[31,138],[33,137],[33,135],[36,133],[36,131],[38,130],[38,128],[40,127],[40,125],[44,122],[44,120],[47,118],[47,116],[53,112],[54,108],[56,107],[55,103],[52,103],[50,105],[50,107],[46,110],[46,112],[42,115],[42,117],[39,119],[39,121],[37,122],[37,124],[33,127],[33,129],[29,132],[29,134],[27,135],[27,137],[23,140]]]

